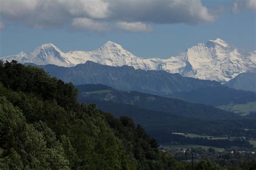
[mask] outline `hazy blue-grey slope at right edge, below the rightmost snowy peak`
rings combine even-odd
[[[241,73],[225,85],[240,90],[256,91],[256,73]]]

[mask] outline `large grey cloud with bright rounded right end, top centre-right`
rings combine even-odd
[[[111,1],[113,2],[113,0]],[[109,6],[111,17],[124,22],[208,23],[215,17],[200,0],[126,0]]]

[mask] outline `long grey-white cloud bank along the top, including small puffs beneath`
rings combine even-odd
[[[201,0],[0,0],[8,22],[105,32],[151,32],[150,24],[200,24],[215,16]]]

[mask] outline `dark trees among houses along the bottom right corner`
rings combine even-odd
[[[242,151],[244,151],[244,148]],[[170,148],[169,152],[172,152],[174,157],[180,161],[190,162],[187,165],[190,165],[191,167],[191,161],[189,161],[192,157],[191,148],[182,151],[176,148]],[[193,148],[193,158],[196,162],[196,165],[194,166],[196,169],[241,170],[255,169],[256,167],[256,155],[252,152],[241,152],[240,150],[237,150],[237,148],[231,148],[230,150],[220,152],[212,147],[196,147]],[[186,167],[186,169],[191,169],[190,167]]]

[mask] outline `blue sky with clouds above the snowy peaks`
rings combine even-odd
[[[143,58],[220,38],[256,50],[256,0],[0,0],[0,56],[55,44],[92,51],[110,40]]]

